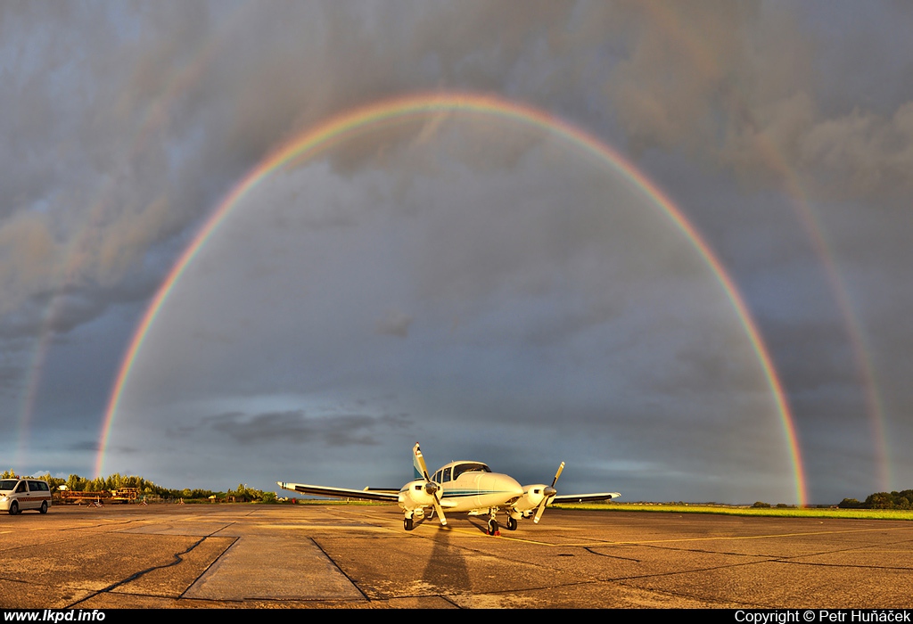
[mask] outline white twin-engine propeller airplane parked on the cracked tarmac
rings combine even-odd
[[[284,490],[301,494],[331,496],[333,498],[359,498],[369,501],[384,501],[399,504],[403,509],[403,527],[406,531],[414,528],[415,520],[431,518],[437,514],[441,525],[447,524],[444,510],[467,512],[469,515],[488,514],[488,535],[498,536],[498,510],[504,509],[508,515],[507,527],[517,530],[520,518],[532,518],[539,524],[545,507],[553,503],[570,503],[581,501],[605,501],[618,498],[617,492],[596,494],[564,494],[559,496],[555,483],[564,470],[564,463],[558,466],[551,485],[534,484],[522,486],[507,474],[492,473],[484,463],[451,462],[433,475],[428,474],[422,450],[415,444],[413,449],[413,466],[415,480],[405,484],[399,492],[365,488],[348,490],[340,487],[322,485],[289,484],[278,481]]]

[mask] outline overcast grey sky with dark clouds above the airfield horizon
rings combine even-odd
[[[418,441],[634,501],[913,487],[910,32],[887,2],[0,3],[0,467],[95,476],[153,297],[270,154],[463,92],[557,123],[428,111],[265,175],[163,299],[105,474],[398,487]]]

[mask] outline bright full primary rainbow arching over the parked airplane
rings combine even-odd
[[[244,179],[236,184],[231,192],[226,195],[222,203],[218,205],[215,212],[206,220],[205,224],[194,237],[194,240],[187,245],[184,249],[184,253],[174,263],[171,272],[165,277],[162,286],[159,287],[159,290],[152,298],[152,302],[146,309],[138,327],[133,333],[131,342],[122,359],[121,368],[114,380],[110,399],[105,410],[95,466],[96,475],[102,473],[111,427],[113,426],[114,417],[117,414],[121,402],[121,394],[123,393],[127,380],[130,378],[131,369],[137,354],[142,348],[143,340],[152,327],[155,317],[162,309],[173,286],[181,276],[184,275],[187,266],[194,260],[194,257],[199,253],[206,241],[215,233],[215,230],[223,222],[226,216],[231,213],[241,198],[257,187],[260,182],[267,179],[268,175],[279,167],[291,161],[301,161],[312,158],[321,151],[325,151],[331,146],[339,143],[341,140],[346,140],[352,137],[352,135],[367,130],[369,127],[373,127],[376,124],[407,120],[435,113],[451,113],[457,111],[517,120],[530,126],[555,133],[562,138],[571,141],[582,150],[590,152],[596,158],[608,163],[617,171],[622,172],[629,182],[635,184],[636,187],[641,189],[648,197],[656,202],[673,224],[677,226],[679,231],[687,236],[690,242],[698,249],[698,253],[703,256],[704,260],[710,266],[713,274],[719,280],[720,285],[723,286],[726,295],[729,298],[729,302],[740,318],[740,322],[748,335],[750,344],[761,362],[761,368],[770,385],[776,402],[777,411],[780,414],[783,432],[792,458],[796,498],[799,504],[806,504],[805,474],[803,472],[802,457],[799,452],[792,413],[784,398],[782,383],[773,367],[771,356],[768,353],[764,342],[761,340],[761,333],[758,330],[754,319],[751,317],[748,307],[740,296],[739,290],[736,288],[725,268],[720,264],[719,258],[714,255],[713,251],[695,227],[687,221],[687,218],[677,208],[676,204],[672,203],[668,196],[666,196],[666,193],[657,187],[654,182],[649,180],[642,172],[638,171],[634,164],[625,161],[618,152],[614,151],[601,140],[593,137],[593,135],[588,134],[567,121],[561,120],[543,110],[533,108],[527,104],[502,99],[493,95],[467,92],[418,93],[401,98],[384,99],[361,108],[347,110],[329,120],[323,121],[310,130],[305,130],[294,139],[289,140],[284,146],[273,151],[263,161],[260,161],[251,172],[247,173],[247,176]]]

